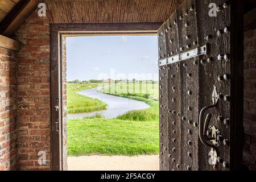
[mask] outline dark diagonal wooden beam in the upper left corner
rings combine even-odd
[[[42,0],[22,0],[0,25],[0,34],[11,38]]]

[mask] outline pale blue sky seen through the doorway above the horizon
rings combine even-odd
[[[158,80],[157,36],[67,38],[68,80]]]

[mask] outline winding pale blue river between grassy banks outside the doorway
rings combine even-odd
[[[90,113],[68,114],[68,119],[82,119],[84,117],[90,117],[95,114],[101,114],[105,118],[115,118],[118,115],[126,113],[130,110],[147,109],[150,107],[145,102],[97,92],[100,89],[102,89],[102,87],[82,90],[77,93],[104,101],[106,104],[108,104],[106,110],[93,111]]]

